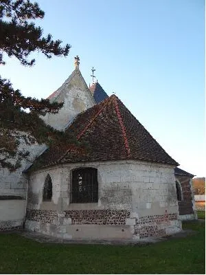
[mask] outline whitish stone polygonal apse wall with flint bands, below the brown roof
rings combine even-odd
[[[98,203],[71,203],[71,171],[98,168]],[[52,201],[43,201],[47,174]],[[61,238],[131,239],[181,230],[174,167],[118,161],[64,164],[32,173],[28,230]]]

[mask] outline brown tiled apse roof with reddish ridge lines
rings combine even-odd
[[[71,144],[50,148],[38,157],[38,167],[119,159],[179,165],[115,95],[77,115],[66,131],[87,148]]]

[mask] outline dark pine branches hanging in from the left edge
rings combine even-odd
[[[30,67],[35,59],[32,52],[41,52],[47,58],[67,56],[70,45],[61,46],[62,41],[43,36],[43,29],[36,26],[35,19],[43,19],[45,13],[38,3],[30,0],[0,0],[0,65],[5,65],[4,56],[16,57],[21,65]],[[10,80],[0,76],[0,164],[16,170],[21,160],[28,157],[26,151],[18,151],[20,140],[25,135],[28,144],[34,142],[51,144],[64,142],[70,137],[47,126],[40,118],[46,113],[58,113],[63,103],[49,102],[25,97],[19,89],[13,89]],[[21,133],[21,134],[20,134]],[[71,138],[72,140],[72,138]],[[10,162],[10,159],[16,162]]]

